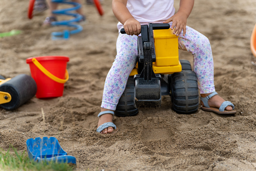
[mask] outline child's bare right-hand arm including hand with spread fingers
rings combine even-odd
[[[183,29],[183,36],[186,34],[186,24],[187,18],[192,11],[194,5],[194,0],[180,0],[180,8],[176,14],[171,18],[164,21],[164,23],[169,23],[172,21],[171,29],[173,29],[173,34],[178,36]]]

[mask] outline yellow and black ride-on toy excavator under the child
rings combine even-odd
[[[126,34],[121,29],[122,34]],[[190,114],[199,106],[197,77],[190,62],[179,60],[178,37],[168,23],[141,26],[138,62],[132,70],[115,114],[133,116],[139,108],[159,108],[161,96],[170,95],[172,109]]]

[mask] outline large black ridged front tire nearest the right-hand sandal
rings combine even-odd
[[[198,110],[199,94],[196,73],[183,70],[169,75],[172,109],[180,114]]]

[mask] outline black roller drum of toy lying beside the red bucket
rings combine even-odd
[[[37,86],[35,80],[26,74],[18,75],[0,85],[0,91],[10,93],[11,101],[1,104],[6,110],[13,110],[35,96]]]

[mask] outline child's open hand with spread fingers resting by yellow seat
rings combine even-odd
[[[172,21],[171,29],[173,30],[173,34],[178,36],[183,29],[183,36],[186,35],[186,24],[187,24],[187,16],[185,14],[177,12],[171,18],[165,20],[163,23],[169,23]]]

